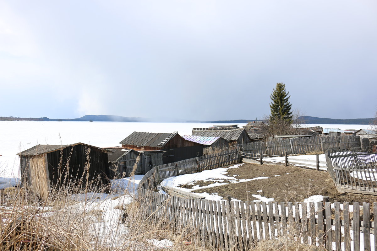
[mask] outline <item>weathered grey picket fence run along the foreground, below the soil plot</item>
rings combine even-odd
[[[166,221],[211,249],[248,250],[259,240],[289,238],[328,251],[377,250],[377,203],[210,201],[145,189],[139,201],[152,222]]]

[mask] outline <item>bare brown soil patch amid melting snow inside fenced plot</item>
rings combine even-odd
[[[207,189],[195,190],[195,193],[218,193],[226,198],[239,199],[241,201],[252,201],[251,195],[262,195],[267,198],[274,198],[275,201],[303,201],[312,195],[329,196],[330,202],[377,202],[377,196],[359,195],[354,193],[337,192],[333,181],[327,172],[311,169],[303,169],[294,166],[285,167],[283,165],[270,164],[243,164],[239,168],[228,169],[227,176],[237,179],[252,179],[260,176],[269,177],[264,180],[253,180],[242,183],[228,184]],[[274,176],[280,175],[280,176]],[[213,182],[198,182],[201,186],[206,186]],[[192,186],[191,186],[192,187]],[[190,187],[187,187],[190,188]],[[257,192],[262,190],[262,192]]]

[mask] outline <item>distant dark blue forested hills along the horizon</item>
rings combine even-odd
[[[17,117],[0,117],[0,120],[35,120],[35,121],[109,121],[109,122],[207,122],[207,123],[227,123],[227,124],[241,124],[249,121],[256,121],[253,119],[237,119],[237,120],[216,120],[216,121],[198,121],[198,120],[184,120],[172,118],[140,118],[140,117],[123,117],[116,115],[85,115],[77,119],[49,119],[48,117],[42,118],[17,118]],[[333,125],[369,125],[373,122],[374,118],[369,119],[328,119],[310,116],[299,117],[300,121],[306,124],[333,124]],[[258,120],[261,121],[261,120]]]

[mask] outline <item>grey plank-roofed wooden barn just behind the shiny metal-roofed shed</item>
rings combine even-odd
[[[192,135],[202,137],[222,137],[228,140],[231,146],[250,142],[250,137],[244,128],[225,130],[204,130],[203,128],[193,128]]]

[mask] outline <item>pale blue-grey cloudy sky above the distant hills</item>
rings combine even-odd
[[[377,110],[377,1],[3,1],[0,116],[262,118]]]

